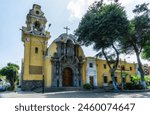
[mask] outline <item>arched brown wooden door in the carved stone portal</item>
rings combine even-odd
[[[62,85],[64,87],[73,86],[73,71],[71,68],[67,67],[63,70],[63,80]]]

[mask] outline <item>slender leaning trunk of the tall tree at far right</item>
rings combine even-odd
[[[138,62],[138,70],[139,70],[140,76],[141,76],[141,85],[144,87],[144,89],[146,89],[146,83],[145,83],[145,79],[144,79],[144,70],[142,68],[140,56],[137,51],[136,51],[136,57],[137,57],[137,62]]]

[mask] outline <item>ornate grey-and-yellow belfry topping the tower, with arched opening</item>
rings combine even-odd
[[[33,8],[29,11],[26,17],[27,27],[23,27],[23,31],[33,35],[45,36],[45,25],[47,19],[41,11],[41,6],[34,4]]]

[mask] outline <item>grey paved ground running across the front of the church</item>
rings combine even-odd
[[[150,98],[150,92],[64,91],[50,93],[0,92],[1,98]]]

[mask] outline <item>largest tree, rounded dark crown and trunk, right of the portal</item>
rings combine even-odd
[[[96,56],[104,58],[110,68],[115,90],[118,90],[115,81],[115,71],[119,63],[120,50],[117,41],[127,33],[128,20],[121,5],[103,4],[103,0],[93,3],[82,18],[75,35],[78,41],[85,46],[94,45]]]

